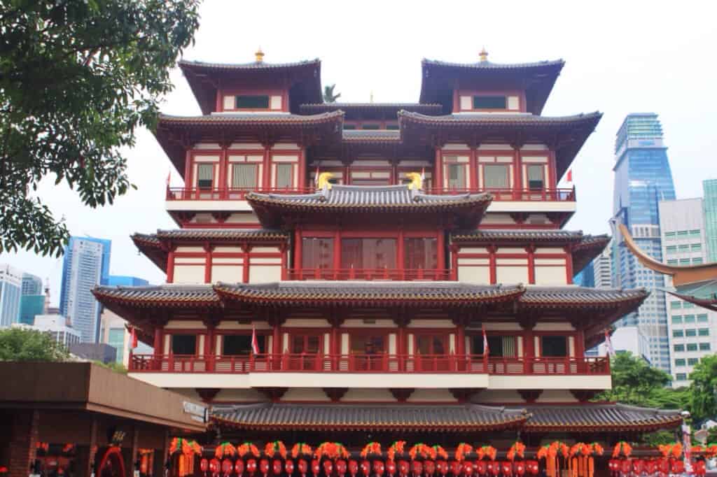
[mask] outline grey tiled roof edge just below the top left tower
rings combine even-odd
[[[322,112],[318,115],[293,115],[281,112],[225,112],[202,116],[159,115],[159,125],[314,125],[337,122],[342,111]]]

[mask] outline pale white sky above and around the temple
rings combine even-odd
[[[657,112],[678,198],[701,196],[701,180],[717,178],[717,5],[706,1],[336,1],[204,0],[195,44],[184,58],[250,62],[321,59],[323,85],[340,101],[417,102],[421,60],[477,62],[482,47],[493,62],[564,59],[543,115],[604,113],[573,164],[578,211],[566,228],[609,231],[614,137],[630,112]],[[179,69],[164,98],[170,114],[199,115]],[[113,206],[83,206],[64,184],[46,181],[39,194],[73,235],[110,238],[111,274],[161,283],[165,276],[138,254],[129,236],[176,228],[164,211],[171,171],[179,173],[147,130],[125,150],[138,188]],[[49,279],[60,295],[62,259],[29,252],[0,254]]]

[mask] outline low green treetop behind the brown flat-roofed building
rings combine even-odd
[[[49,333],[35,329],[0,330],[0,361],[64,361],[70,357]]]

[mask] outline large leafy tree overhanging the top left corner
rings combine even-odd
[[[0,252],[62,253],[37,196],[63,180],[91,207],[132,187],[120,148],[153,127],[199,0],[0,0]]]

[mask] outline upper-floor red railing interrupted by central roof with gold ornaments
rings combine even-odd
[[[248,192],[300,194],[312,193],[315,188],[167,188],[168,201],[243,201]],[[490,192],[494,201],[574,202],[575,188],[543,189],[486,189],[432,188],[426,193],[454,195]]]

